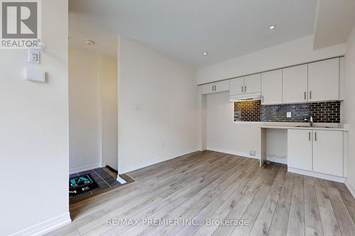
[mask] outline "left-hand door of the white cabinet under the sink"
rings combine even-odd
[[[312,171],[312,130],[288,130],[288,167]]]

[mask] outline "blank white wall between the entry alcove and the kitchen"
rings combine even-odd
[[[119,42],[119,173],[198,149],[195,69]]]

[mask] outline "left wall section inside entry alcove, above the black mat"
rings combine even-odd
[[[69,48],[70,173],[101,167],[100,57]]]

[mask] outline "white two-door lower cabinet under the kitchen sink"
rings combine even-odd
[[[343,132],[288,130],[288,167],[344,176]]]

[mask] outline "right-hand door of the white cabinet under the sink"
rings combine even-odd
[[[342,131],[313,131],[313,171],[343,176]]]

